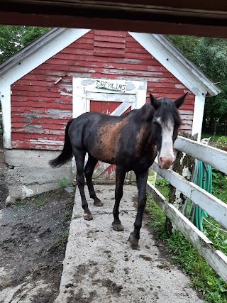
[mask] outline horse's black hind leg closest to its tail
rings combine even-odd
[[[86,152],[84,150],[74,150],[74,157],[77,166],[77,186],[79,187],[80,197],[82,199],[82,208],[84,209],[84,219],[92,220],[92,213],[89,211],[87,200],[84,193],[84,158]]]

